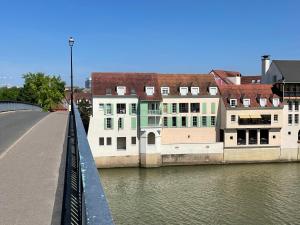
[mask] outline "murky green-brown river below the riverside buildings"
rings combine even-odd
[[[101,169],[117,225],[300,224],[300,164]]]

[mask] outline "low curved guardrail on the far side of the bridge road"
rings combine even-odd
[[[42,108],[38,105],[17,102],[17,101],[0,101],[0,112],[18,111],[18,110],[34,110],[42,111]]]

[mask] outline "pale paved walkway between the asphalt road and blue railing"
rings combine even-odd
[[[0,156],[0,224],[60,224],[67,112],[37,122]]]

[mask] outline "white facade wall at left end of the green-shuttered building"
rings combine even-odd
[[[103,104],[103,109],[101,104]],[[105,105],[107,104],[112,105],[111,113],[105,112]],[[126,113],[118,113],[117,104],[125,104]],[[136,97],[93,98],[93,114],[90,118],[88,141],[95,160],[97,157],[104,156],[139,155],[137,113],[130,112],[131,104],[136,104],[137,110],[138,99]],[[107,125],[105,125],[105,120],[107,118],[112,119],[112,128],[107,128]],[[120,120],[122,121],[122,126],[119,126]],[[134,120],[136,121],[135,123]],[[134,124],[135,126],[133,126]],[[100,144],[100,138],[104,138],[103,144]],[[109,138],[111,138],[111,144],[108,143]],[[118,149],[118,138],[126,138],[126,148]],[[135,144],[134,142],[132,143],[132,138],[135,138]],[[119,139],[119,143],[120,140],[121,139]]]

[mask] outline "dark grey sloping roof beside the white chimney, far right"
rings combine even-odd
[[[273,60],[285,82],[300,83],[300,60]]]

